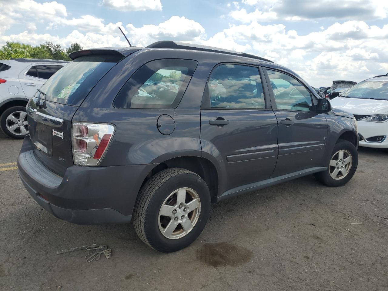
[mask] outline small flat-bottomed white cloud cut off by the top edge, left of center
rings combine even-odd
[[[101,4],[120,11],[162,10],[160,0],[102,0]]]

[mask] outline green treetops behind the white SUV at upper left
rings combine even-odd
[[[61,45],[55,45],[52,42],[45,42],[36,47],[25,43],[7,42],[0,49],[0,59],[27,58],[71,61],[69,54],[81,49],[82,47],[79,43],[72,43],[65,50],[61,48]]]

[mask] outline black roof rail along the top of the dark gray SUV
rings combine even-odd
[[[162,40],[159,42],[154,42],[151,45],[147,46],[146,48],[147,49],[201,50],[205,52],[218,52],[221,54],[239,55],[241,57],[249,57],[251,59],[256,59],[260,61],[272,62],[270,60],[264,59],[263,57],[246,54],[244,52],[235,52],[234,50],[225,50],[225,49],[220,49],[218,47],[208,47],[206,45],[196,45],[196,44],[184,43],[184,42],[173,42],[172,40]]]

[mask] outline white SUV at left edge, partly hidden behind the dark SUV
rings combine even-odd
[[[9,137],[28,134],[26,105],[45,81],[68,61],[0,60],[0,127]]]

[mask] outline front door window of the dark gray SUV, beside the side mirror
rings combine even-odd
[[[267,69],[275,95],[277,109],[310,111],[310,92],[295,78],[278,71]]]

